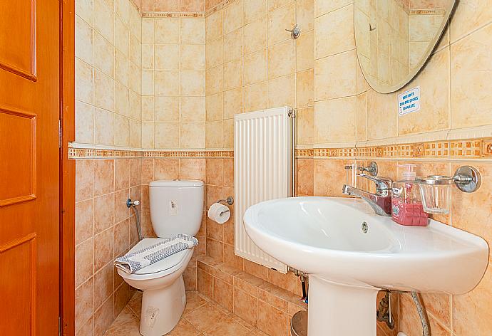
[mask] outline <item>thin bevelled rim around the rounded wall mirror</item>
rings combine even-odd
[[[442,37],[446,33],[446,28],[449,25],[449,22],[451,21],[451,17],[454,14],[454,11],[456,10],[456,4],[458,3],[459,0],[451,0],[451,4],[449,5],[449,8],[447,9],[447,14],[444,16],[444,19],[441,23],[441,26],[439,26],[439,33],[434,36],[434,39],[429,43],[429,46],[427,47],[425,53],[423,54],[424,56],[421,58],[421,61],[416,65],[415,70],[409,73],[409,75],[404,79],[401,80],[400,83],[396,85],[389,86],[387,88],[379,88],[378,85],[375,83],[371,83],[371,80],[368,80],[367,78],[370,78],[366,70],[362,68],[362,65],[359,61],[359,51],[357,48],[357,29],[356,29],[356,22],[355,22],[355,2],[357,0],[354,0],[354,40],[355,40],[355,50],[357,53],[357,62],[359,63],[359,67],[361,68],[362,75],[364,75],[364,80],[366,80],[367,84],[377,93],[394,93],[401,88],[404,88],[405,85],[411,82],[411,80],[414,80],[417,75],[421,72],[421,70],[424,69],[424,65],[429,61],[429,58],[431,57],[432,53],[436,50],[436,48],[439,46],[439,43],[441,42]]]

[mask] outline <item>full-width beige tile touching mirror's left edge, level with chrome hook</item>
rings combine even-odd
[[[346,6],[314,20],[315,58],[342,53],[355,48],[354,6]],[[332,32],[332,33],[329,33]]]

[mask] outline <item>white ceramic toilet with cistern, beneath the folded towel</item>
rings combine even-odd
[[[138,251],[178,233],[195,236],[203,216],[202,181],[150,182],[150,219],[159,238],[145,238],[130,250]],[[186,305],[183,272],[193,248],[169,256],[133,274],[118,274],[134,288],[143,290],[140,334],[161,336],[178,324]]]

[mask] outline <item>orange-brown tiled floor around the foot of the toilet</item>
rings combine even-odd
[[[135,293],[105,336],[139,336],[142,294]],[[186,292],[186,308],[169,336],[267,336],[198,292]]]

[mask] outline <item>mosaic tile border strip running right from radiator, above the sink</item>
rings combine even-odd
[[[492,159],[492,139],[419,142],[352,148],[296,149],[299,158]]]

